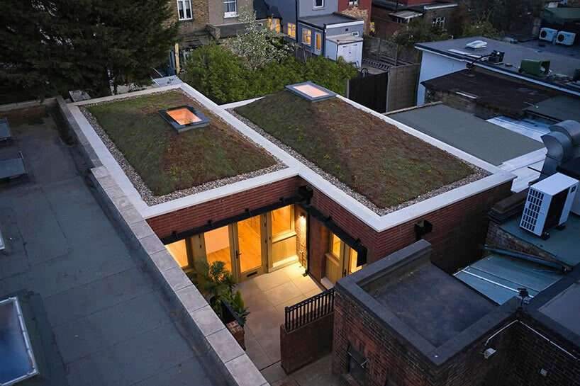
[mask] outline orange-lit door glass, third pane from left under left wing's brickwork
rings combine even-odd
[[[241,272],[262,266],[260,225],[260,216],[250,217],[247,220],[238,222]]]

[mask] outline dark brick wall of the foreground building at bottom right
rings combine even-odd
[[[437,368],[350,297],[340,291],[335,297],[333,373],[347,373],[347,348],[351,344],[367,359],[367,386],[496,386],[508,364],[508,351],[504,348],[510,336],[494,338],[493,347],[498,352],[488,360],[481,355],[486,339],[487,335],[482,336]]]

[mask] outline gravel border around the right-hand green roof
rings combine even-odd
[[[234,115],[235,118],[238,118],[243,123],[245,123],[247,126],[252,128],[252,130],[255,130],[258,134],[262,135],[262,137],[265,137],[265,138],[267,138],[267,140],[276,144],[278,147],[283,149],[286,153],[290,154],[292,157],[298,159],[303,164],[308,166],[310,169],[315,171],[316,174],[319,174],[320,176],[322,176],[326,181],[332,183],[334,186],[339,188],[341,191],[344,191],[345,193],[347,193],[347,195],[350,195],[352,198],[355,198],[355,200],[359,201],[359,203],[362,203],[364,206],[366,206],[367,208],[369,208],[373,212],[377,213],[377,215],[379,215],[379,216],[388,215],[389,213],[396,212],[397,210],[406,208],[406,207],[411,206],[413,204],[419,203],[423,200],[427,200],[428,198],[433,198],[437,195],[440,195],[441,193],[445,193],[447,191],[452,191],[454,188],[459,188],[459,186],[467,185],[469,183],[478,181],[481,178],[484,178],[484,177],[490,175],[484,169],[481,169],[473,164],[469,164],[469,162],[466,162],[463,159],[459,159],[459,161],[462,161],[464,164],[469,166],[474,171],[474,173],[470,174],[469,176],[467,176],[465,178],[462,178],[459,181],[449,183],[445,186],[441,186],[440,188],[434,189],[433,191],[429,191],[428,193],[423,193],[422,195],[418,195],[416,198],[408,200],[404,203],[394,205],[394,206],[391,206],[389,208],[379,208],[377,205],[372,203],[372,201],[369,200],[367,197],[365,197],[361,193],[358,193],[357,191],[354,191],[352,188],[350,188],[350,186],[347,186],[347,184],[343,183],[342,181],[340,181],[338,178],[336,178],[332,174],[329,174],[326,171],[323,171],[323,169],[320,169],[312,161],[309,161],[308,159],[306,159],[306,157],[303,157],[302,154],[300,154],[299,152],[296,152],[296,150],[294,150],[292,147],[289,147],[284,142],[281,142],[273,135],[270,135],[268,132],[264,131],[262,129],[262,127],[256,125],[255,123],[253,123],[251,120],[245,118],[244,116],[236,113],[234,108],[228,108],[227,110],[230,114]]]

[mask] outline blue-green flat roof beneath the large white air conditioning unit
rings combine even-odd
[[[528,242],[542,251],[547,252],[557,261],[574,267],[580,263],[580,248],[578,246],[580,234],[580,216],[570,213],[564,229],[551,229],[550,239],[542,240],[535,234],[520,228],[521,215],[503,222],[499,226],[504,231],[518,239]]]

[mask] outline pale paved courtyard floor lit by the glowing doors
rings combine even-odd
[[[294,263],[238,285],[250,311],[245,324],[246,353],[260,371],[265,370],[262,371],[264,377],[274,371],[272,366],[279,367],[280,324],[284,323],[284,307],[295,305],[323,290],[303,273],[304,268]]]

